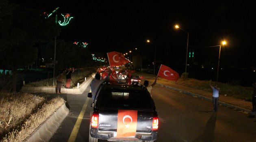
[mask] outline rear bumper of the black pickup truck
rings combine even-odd
[[[150,141],[156,140],[158,136],[158,131],[152,131],[152,133],[136,133],[135,137],[129,138],[119,138],[115,137],[115,131],[98,131],[98,129],[91,128],[90,129],[91,137],[97,139],[104,139],[109,141],[127,141],[127,142],[138,142],[138,141]]]

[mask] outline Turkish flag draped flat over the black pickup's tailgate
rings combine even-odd
[[[117,137],[135,136],[137,129],[137,110],[118,110]]]

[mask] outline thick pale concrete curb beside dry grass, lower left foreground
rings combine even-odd
[[[48,142],[68,114],[69,109],[64,103],[23,142]]]

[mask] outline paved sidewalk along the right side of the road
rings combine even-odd
[[[154,82],[154,79],[152,79],[152,77],[147,77],[147,76],[144,76],[143,80],[148,80],[150,82]],[[171,82],[166,82],[164,80],[157,80],[156,84],[173,89],[173,90],[181,91],[182,93],[185,93],[185,94],[204,98],[208,101],[212,101],[212,93],[205,91],[205,90],[182,86],[182,85],[174,84]],[[251,113],[252,103],[249,101],[243,101],[241,99],[236,99],[233,97],[224,96],[224,95],[220,94],[219,95],[219,104],[228,106],[230,108],[234,108],[236,110],[242,110],[244,112],[252,114]]]

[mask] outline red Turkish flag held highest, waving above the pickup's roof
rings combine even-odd
[[[107,55],[110,67],[124,65],[130,62],[120,52],[108,52]]]

